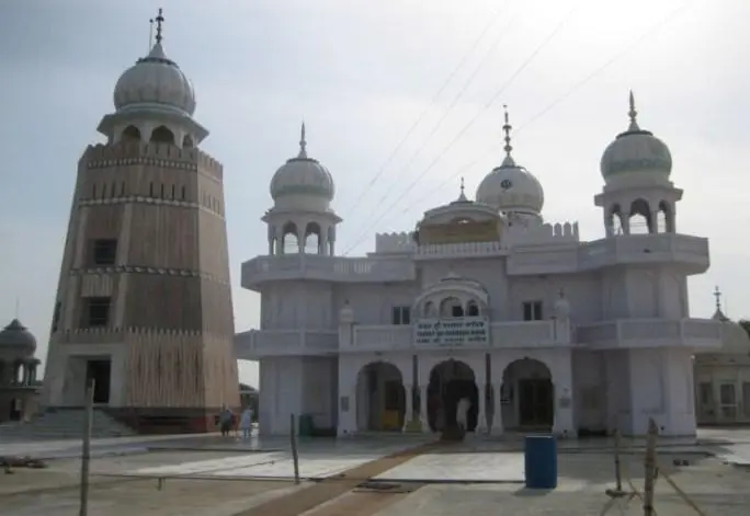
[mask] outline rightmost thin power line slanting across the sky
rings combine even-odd
[[[515,135],[532,125],[534,122],[537,119],[542,118],[544,115],[553,111],[555,107],[557,107],[559,104],[561,104],[565,100],[567,100],[570,95],[572,95],[576,91],[584,87],[587,83],[589,83],[592,79],[594,79],[596,76],[599,76],[601,72],[603,72],[606,68],[612,66],[615,61],[620,60],[622,57],[627,55],[630,50],[633,50],[635,47],[640,45],[644,41],[647,39],[648,36],[652,35],[656,31],[661,28],[663,25],[666,25],[668,22],[674,21],[680,14],[682,14],[683,11],[685,11],[689,7],[692,7],[693,4],[697,3],[696,1],[688,1],[682,3],[680,7],[664,15],[663,18],[659,19],[656,23],[650,25],[645,32],[643,32],[636,39],[634,39],[632,43],[629,43],[625,48],[616,53],[613,57],[607,59],[602,66],[593,70],[591,73],[586,76],[582,80],[576,82],[571,88],[569,88],[565,93],[562,93],[560,96],[555,99],[552,103],[549,103],[546,107],[544,107],[542,111],[536,113],[534,116],[529,118],[524,124],[522,124],[518,129],[515,129]],[[489,154],[490,152],[496,151],[496,145],[492,145],[488,151],[482,154],[482,158],[475,159],[471,161],[471,163],[468,163],[464,167],[461,168],[461,170],[453,175],[446,177],[443,182],[441,182],[438,186],[430,190],[427,194],[421,196],[420,198],[416,199],[413,203],[410,203],[410,206],[405,208],[399,215],[407,214],[413,209],[413,207],[419,204],[420,202],[429,198],[432,196],[434,193],[439,192],[442,190],[446,184],[448,184],[451,181],[455,181],[459,175],[462,175],[462,172],[465,170],[469,169],[473,167],[475,163],[479,162],[481,159],[484,159],[485,156]],[[360,242],[357,242],[356,245],[359,245]]]

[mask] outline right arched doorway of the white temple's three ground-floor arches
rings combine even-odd
[[[502,374],[502,426],[505,429],[550,432],[555,422],[555,388],[549,368],[522,358]]]

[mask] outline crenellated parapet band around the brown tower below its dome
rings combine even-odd
[[[206,152],[203,152],[195,147],[181,149],[171,144],[98,144],[87,148],[81,161],[86,163],[88,169],[152,164],[162,168],[196,170],[219,180],[224,175],[221,163]]]

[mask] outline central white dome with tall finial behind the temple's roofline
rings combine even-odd
[[[515,163],[511,151],[512,126],[505,111],[505,159],[500,167],[485,176],[477,188],[476,199],[504,214],[539,215],[544,206],[544,190],[538,180],[526,169]]]

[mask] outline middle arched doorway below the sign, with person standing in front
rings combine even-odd
[[[466,431],[474,432],[479,411],[479,389],[474,371],[465,363],[453,358],[433,367],[428,386],[428,424],[432,432],[441,432],[456,424],[456,408],[462,398],[468,398],[471,402]]]

